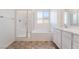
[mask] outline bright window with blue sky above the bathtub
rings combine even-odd
[[[43,24],[49,22],[49,11],[37,11],[37,23]]]

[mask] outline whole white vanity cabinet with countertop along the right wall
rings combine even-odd
[[[56,28],[53,41],[60,49],[79,49],[79,30]]]

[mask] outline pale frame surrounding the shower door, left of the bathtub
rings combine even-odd
[[[16,27],[17,27],[17,11],[26,11],[27,12],[27,16],[26,16],[26,36],[25,37],[17,37],[16,36]],[[28,9],[16,9],[15,10],[15,41],[26,41],[28,39]]]

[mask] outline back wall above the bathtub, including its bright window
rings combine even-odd
[[[34,31],[49,32],[49,10],[37,10],[34,17]]]

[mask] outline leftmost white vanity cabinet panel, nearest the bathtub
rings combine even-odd
[[[59,48],[61,48],[61,30],[55,29],[53,41]]]

